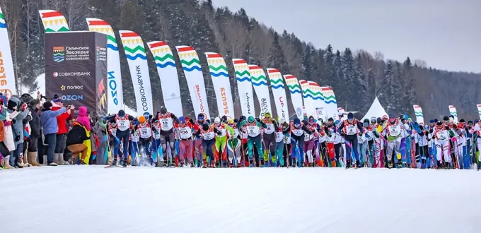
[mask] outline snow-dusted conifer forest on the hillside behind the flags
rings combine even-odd
[[[245,59],[248,64],[258,64],[262,68],[278,68],[284,74],[291,73],[320,85],[330,85],[335,91],[337,104],[350,111],[366,113],[377,96],[388,113],[407,113],[414,117],[412,104],[419,104],[425,119],[439,118],[448,114],[448,104],[453,104],[460,119],[478,117],[476,104],[481,103],[481,95],[476,91],[481,87],[479,73],[437,70],[422,60],[413,61],[409,57],[405,61],[386,61],[381,52],[369,54],[363,50],[333,48],[328,44],[317,44],[323,48],[316,48],[293,33],[276,32],[250,18],[243,9],[232,12],[228,8],[215,8],[211,0],[0,0],[0,7],[7,21],[18,87],[23,85],[34,90],[35,78],[45,73],[45,30],[38,10],[52,9],[64,14],[70,30],[88,30],[85,18],[101,18],[107,20],[114,30],[134,30],[144,42],[163,40],[170,47],[195,47],[202,62],[213,116],[217,108],[204,52],[219,52],[226,59],[237,104],[236,113],[239,114],[232,58]],[[118,32],[116,34],[117,41],[120,41]],[[178,59],[175,49],[173,52]],[[134,108],[132,80],[121,46],[120,54],[124,101]],[[153,58],[151,54],[148,56],[151,85],[159,87]],[[180,64],[178,73],[181,95],[188,96]],[[29,90],[23,90],[26,91]],[[162,90],[152,88],[152,91],[157,110],[163,104]],[[189,101],[182,99],[185,112],[193,112]],[[258,111],[258,106],[256,109]]]

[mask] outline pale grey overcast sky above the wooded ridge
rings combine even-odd
[[[332,44],[422,59],[433,68],[481,72],[481,0],[213,0],[244,8],[278,32],[317,48]]]

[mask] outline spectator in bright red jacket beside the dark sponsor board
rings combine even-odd
[[[64,103],[62,102],[62,98],[59,95],[54,95],[53,99],[54,103],[58,105],[58,108],[64,107]],[[57,107],[52,107],[53,110],[57,109]],[[60,114],[57,117],[57,125],[59,126],[59,131],[57,131],[57,145],[55,146],[55,153],[54,153],[54,162],[58,165],[69,165],[69,162],[64,160],[64,150],[65,150],[65,140],[66,140],[66,133],[69,132],[69,128],[67,127],[67,121],[71,121],[74,119],[74,105],[71,105],[67,108],[68,110],[63,114]],[[56,160],[55,160],[56,159]]]

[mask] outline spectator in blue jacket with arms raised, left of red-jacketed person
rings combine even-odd
[[[48,101],[43,104],[42,113],[40,114],[40,123],[42,124],[42,133],[45,136],[45,143],[47,143],[47,165],[57,166],[54,163],[54,150],[57,144],[57,131],[59,126],[57,125],[57,117],[66,112],[64,107],[52,111],[52,102]]]

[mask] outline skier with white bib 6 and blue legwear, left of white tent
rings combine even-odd
[[[354,114],[349,112],[347,114],[347,120],[342,121],[339,129],[341,135],[344,137],[346,143],[346,167],[352,167],[352,162],[356,163],[356,167],[359,167],[359,153],[357,151],[357,136],[362,134],[362,124],[354,119]],[[354,153],[354,157],[352,157]],[[352,161],[350,158],[352,157]]]

